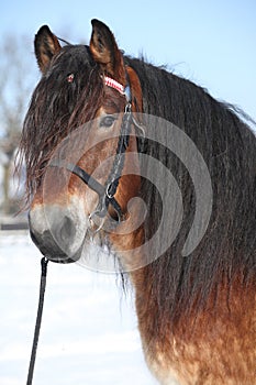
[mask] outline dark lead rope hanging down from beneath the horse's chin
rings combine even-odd
[[[40,328],[41,328],[43,307],[44,307],[44,294],[45,294],[45,287],[46,287],[47,264],[48,264],[48,260],[44,256],[41,260],[41,268],[42,270],[41,270],[38,309],[37,309],[37,316],[36,316],[36,322],[35,322],[34,340],[33,340],[33,344],[32,344],[31,360],[30,360],[30,367],[29,367],[29,373],[27,373],[26,385],[32,384],[33,374],[34,374],[36,350],[37,350],[37,343],[38,343],[38,338],[40,338]]]

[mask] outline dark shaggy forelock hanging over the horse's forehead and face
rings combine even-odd
[[[27,198],[57,144],[94,118],[102,95],[100,68],[89,48],[63,47],[35,88],[24,120],[20,152],[26,165]]]

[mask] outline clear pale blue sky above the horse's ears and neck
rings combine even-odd
[[[42,24],[74,43],[88,42],[90,20],[111,28],[121,48],[240,106],[256,120],[256,1],[4,1],[0,32],[33,36]]]

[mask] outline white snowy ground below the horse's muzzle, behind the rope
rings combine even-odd
[[[26,383],[41,254],[29,235],[0,233],[0,384]],[[48,264],[34,385],[156,385],[133,300],[114,275]]]

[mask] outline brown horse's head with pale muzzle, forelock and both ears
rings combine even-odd
[[[89,46],[62,47],[46,25],[34,46],[42,78],[21,141],[30,231],[48,258],[73,262],[88,229],[130,220],[127,202],[140,189],[133,113],[142,110],[141,85],[97,20]]]

